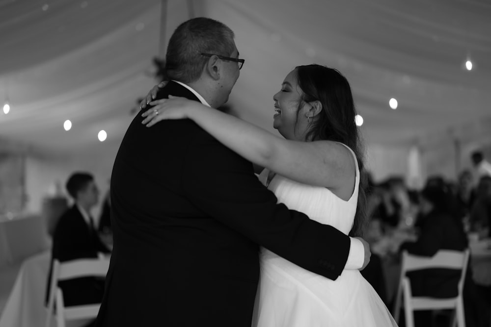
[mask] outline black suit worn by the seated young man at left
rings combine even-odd
[[[83,219],[77,205],[69,208],[60,217],[53,234],[51,250],[51,266],[46,288],[48,302],[53,259],[60,262],[80,258],[97,258],[98,252],[109,253],[97,232]],[[63,291],[63,301],[66,306],[98,303],[104,294],[104,281],[94,277],[83,277],[60,281],[58,286]]]

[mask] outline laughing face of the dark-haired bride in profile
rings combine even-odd
[[[301,95],[297,72],[293,70],[286,75],[281,90],[273,96],[273,127],[288,140],[305,140],[308,122],[303,109],[308,105],[304,103],[298,112]]]

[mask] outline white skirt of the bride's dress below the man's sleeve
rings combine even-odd
[[[311,273],[266,249],[253,327],[397,326],[377,292],[357,270],[336,280]]]

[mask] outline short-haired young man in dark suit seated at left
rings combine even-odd
[[[80,258],[97,258],[99,252],[109,253],[100,240],[90,215],[90,210],[99,198],[94,177],[88,173],[74,173],[68,178],[66,189],[75,203],[65,211],[56,225],[53,235],[52,267],[53,259],[64,262]],[[49,299],[51,269],[46,301]],[[95,277],[60,281],[58,285],[63,291],[66,306],[101,302],[104,294],[104,280]]]

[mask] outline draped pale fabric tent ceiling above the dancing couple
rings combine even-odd
[[[155,83],[161,2],[0,0],[0,104],[4,94],[11,103],[0,113],[0,140],[77,151],[106,146],[97,140],[105,129],[106,144],[119,143],[136,98]],[[370,144],[421,143],[450,127],[463,138],[490,134],[489,1],[167,3],[164,42],[190,6],[235,31],[246,64],[229,103],[259,126],[273,130],[272,98],[284,76],[315,62],[347,76]]]

